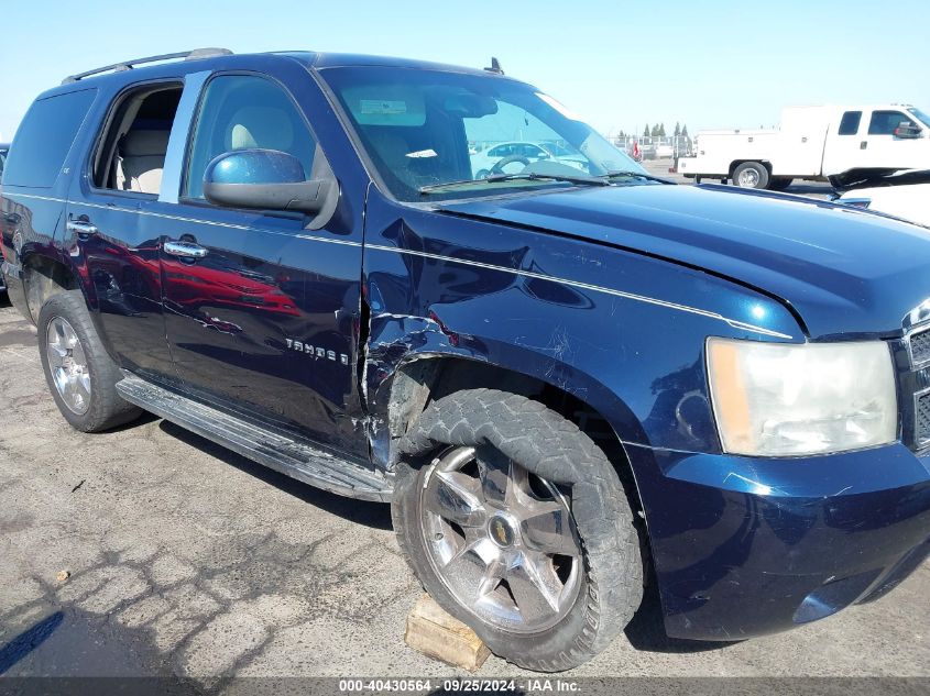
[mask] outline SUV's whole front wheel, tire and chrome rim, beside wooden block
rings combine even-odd
[[[403,445],[392,515],[426,590],[521,666],[588,661],[642,600],[616,472],[573,423],[525,397],[472,389],[435,401]]]

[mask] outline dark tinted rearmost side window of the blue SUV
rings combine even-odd
[[[87,89],[33,102],[10,148],[4,183],[51,188],[96,95]]]

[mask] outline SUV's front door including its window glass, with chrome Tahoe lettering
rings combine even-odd
[[[366,456],[366,440],[353,437],[362,433],[361,221],[337,217],[338,230],[309,231],[303,214],[203,198],[207,164],[233,150],[286,152],[309,177],[317,145],[300,108],[280,82],[218,75],[204,88],[189,143],[179,202],[153,201],[142,216],[145,234],[163,241],[165,328],[184,388]],[[192,247],[203,255],[178,255]]]

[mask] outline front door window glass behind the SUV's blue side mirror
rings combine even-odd
[[[294,155],[310,176],[316,141],[287,93],[261,77],[217,77],[207,85],[195,124],[187,195],[204,197],[204,173],[214,157],[250,147]]]

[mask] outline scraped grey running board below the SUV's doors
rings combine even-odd
[[[304,441],[266,430],[134,375],[118,382],[117,391],[130,404],[317,488],[361,500],[391,500],[392,483],[387,476]]]

